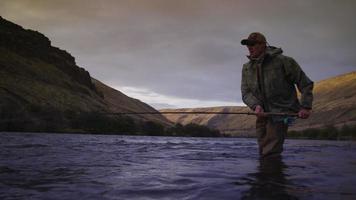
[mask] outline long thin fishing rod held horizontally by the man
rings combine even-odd
[[[106,115],[170,115],[170,114],[192,114],[192,115],[258,115],[254,112],[214,112],[214,111],[162,111],[162,112],[112,112],[100,113]],[[265,116],[285,116],[285,117],[298,117],[297,113],[279,113],[279,112],[265,112]]]

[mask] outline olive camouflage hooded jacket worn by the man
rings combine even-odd
[[[264,55],[250,58],[243,65],[242,100],[252,110],[257,105],[265,112],[298,112],[302,107],[312,108],[313,82],[293,58],[282,53],[280,48],[267,47]],[[295,86],[301,93],[300,101]]]

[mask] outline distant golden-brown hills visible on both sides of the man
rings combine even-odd
[[[160,111],[248,112],[247,107],[163,109]],[[255,117],[246,115],[165,115],[174,123],[197,123],[230,135],[253,135]],[[329,125],[356,124],[356,72],[317,82],[314,87],[313,113],[298,119],[290,130],[320,128]]]

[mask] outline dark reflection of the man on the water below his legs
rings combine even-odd
[[[241,199],[298,199],[286,188],[292,186],[285,174],[287,168],[282,156],[261,158],[258,172],[246,178],[251,188],[243,192]]]

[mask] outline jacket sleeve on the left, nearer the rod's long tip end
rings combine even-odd
[[[253,95],[251,88],[247,84],[247,74],[245,67],[242,69],[242,77],[241,77],[241,94],[242,101],[251,109],[255,110],[257,105],[262,105],[261,102]]]

